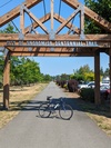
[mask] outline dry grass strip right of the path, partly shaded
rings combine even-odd
[[[65,93],[68,97],[75,100],[81,111],[84,111],[108,136],[111,137],[111,112],[108,107],[101,105],[97,108],[94,103],[81,100],[77,93]]]

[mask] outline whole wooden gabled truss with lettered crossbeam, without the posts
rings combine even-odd
[[[81,32],[84,27],[84,14],[93,19],[97,23],[99,23],[104,29],[111,31],[111,23],[105,21],[103,18],[99,17],[95,12],[90,10],[89,8],[82,6],[77,0],[62,0],[70,7],[77,9],[68,19],[62,18],[58,13],[53,13],[51,10],[50,13],[47,13],[41,19],[38,19],[31,11],[29,10],[31,7],[38,4],[42,0],[27,0],[21,6],[14,8],[7,14],[0,18],[0,27],[12,20],[13,18],[20,16],[21,19],[21,33],[3,33],[0,34],[0,47],[7,48],[12,56],[14,55],[50,55],[56,56],[93,56],[93,51],[98,48],[101,50],[111,48],[111,36],[110,34],[84,34],[85,38],[81,38]],[[22,13],[21,13],[22,11]],[[24,12],[27,12],[33,20],[31,26],[24,28]],[[75,17],[77,13],[81,12],[81,27],[78,29],[70,21]],[[82,17],[83,16],[83,17]],[[53,19],[61,22],[60,27],[57,29],[54,38],[50,38],[51,34],[43,26],[43,23],[48,20]],[[39,34],[36,32],[36,28],[41,27],[42,30],[47,34]],[[69,32],[65,34],[58,34],[64,27],[69,28]],[[31,34],[31,30],[34,30],[36,34]],[[78,34],[69,34],[71,31]],[[53,33],[53,32],[52,32]],[[23,37],[23,38],[22,38]],[[23,50],[22,50],[23,49]],[[38,49],[38,50],[37,50]],[[80,49],[80,50],[79,50]],[[82,50],[83,49],[83,50]],[[85,50],[84,50],[85,49]],[[78,51],[77,51],[78,50]],[[74,51],[74,53],[73,53]],[[92,52],[92,53],[91,53]]]

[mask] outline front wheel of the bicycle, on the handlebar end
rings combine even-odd
[[[73,109],[70,105],[62,105],[59,115],[63,120],[69,120],[73,116]]]

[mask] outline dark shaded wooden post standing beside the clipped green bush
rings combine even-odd
[[[94,102],[97,106],[101,103],[100,99],[100,52],[94,52],[94,81],[95,81],[95,88],[94,88]]]

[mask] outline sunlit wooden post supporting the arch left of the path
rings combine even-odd
[[[4,57],[3,69],[3,109],[9,109],[10,52]]]

